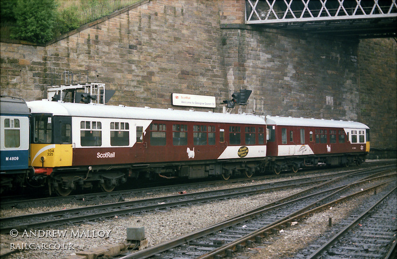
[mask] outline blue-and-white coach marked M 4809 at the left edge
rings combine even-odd
[[[29,168],[29,109],[23,99],[0,97],[1,192],[24,185]]]

